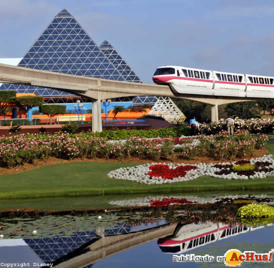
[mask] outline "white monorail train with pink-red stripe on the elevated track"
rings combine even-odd
[[[155,84],[168,85],[178,94],[274,98],[274,77],[270,76],[161,66],[152,80]]]

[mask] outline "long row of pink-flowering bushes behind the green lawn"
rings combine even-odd
[[[33,163],[36,159],[46,160],[50,156],[63,159],[76,157],[123,159],[191,158],[197,155],[216,159],[234,159],[252,155],[256,148],[264,146],[265,134],[251,136],[248,132],[238,132],[233,137],[226,133],[213,136],[177,138],[140,138],[131,136],[127,140],[110,141],[103,137],[72,136],[67,133],[30,135],[20,134],[0,137],[0,164],[11,167]],[[186,174],[184,174],[185,176]]]

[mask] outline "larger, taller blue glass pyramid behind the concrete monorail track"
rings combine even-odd
[[[133,77],[131,73],[134,71],[131,68],[128,70],[129,67],[126,67],[126,70],[122,70],[120,66],[124,67],[124,64],[120,63],[116,66],[114,63],[102,52],[77,20],[63,9],[35,40],[18,66],[119,81],[130,81],[128,78],[133,78],[131,81],[141,82],[137,75]],[[130,73],[122,75],[119,70],[125,74],[129,71]],[[55,99],[53,101],[55,103],[60,103],[60,99],[76,97],[66,92],[18,84],[2,84],[0,90],[34,93],[46,99]],[[80,99],[80,97],[76,98]],[[119,101],[125,100],[120,98]]]

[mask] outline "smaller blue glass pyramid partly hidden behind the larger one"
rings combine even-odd
[[[142,83],[135,71],[107,40],[100,45],[100,49],[104,52],[116,69],[123,75],[126,81]],[[157,101],[157,98],[154,96],[136,96],[129,98],[133,99],[133,103],[135,105],[154,104]],[[116,98],[115,100],[118,101],[120,99],[121,98]]]

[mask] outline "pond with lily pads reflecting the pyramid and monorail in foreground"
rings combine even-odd
[[[100,197],[99,197],[100,199]],[[0,211],[3,267],[225,267],[230,249],[272,252],[271,219],[241,219],[251,203],[274,205],[274,195],[211,193],[176,196],[104,197],[98,207],[78,199],[74,209],[26,209],[31,200]],[[58,199],[47,200],[48,203]],[[63,203],[69,200],[64,200]],[[77,198],[74,198],[75,206]],[[44,200],[46,202],[46,200]],[[67,203],[67,204],[68,204]],[[88,203],[90,208],[88,208]],[[93,202],[94,203],[94,202]],[[19,206],[20,205],[20,206]],[[71,205],[71,204],[70,204]],[[105,206],[104,206],[105,205]],[[8,207],[1,201],[0,207]],[[21,208],[20,208],[21,207]],[[50,207],[50,205],[49,205]],[[174,256],[212,256],[213,262],[173,262]],[[236,256],[237,257],[237,256]],[[239,257],[239,256],[238,256]],[[271,257],[269,255],[269,257]],[[243,267],[273,267],[247,263]],[[15,266],[16,264],[16,266]]]

